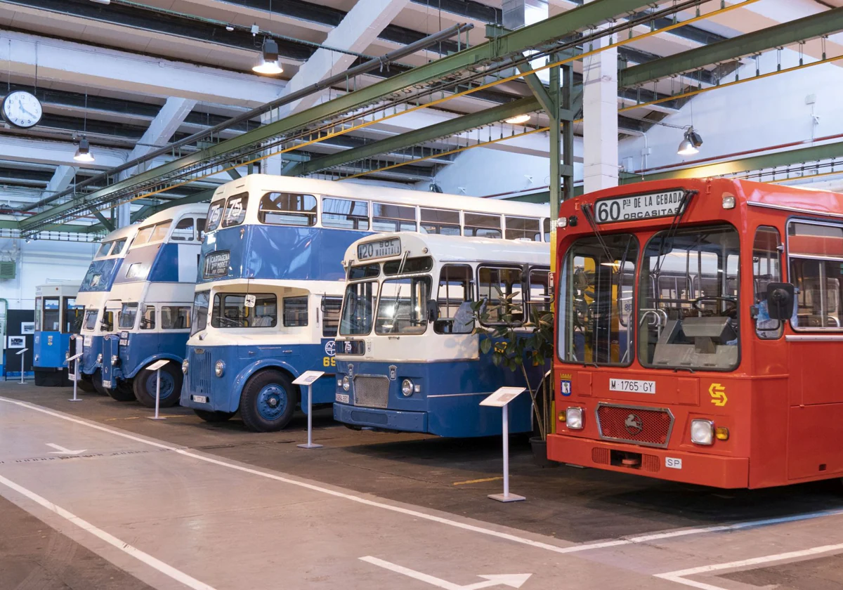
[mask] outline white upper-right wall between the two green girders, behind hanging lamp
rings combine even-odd
[[[812,62],[810,58],[806,62]],[[843,65],[843,62],[837,62]],[[798,64],[795,51],[782,51],[781,67]],[[776,51],[760,57],[760,72],[776,71]],[[741,67],[741,79],[755,74],[754,60]],[[734,74],[723,82],[733,81]],[[717,88],[699,94],[690,100],[679,113],[663,121],[672,125],[693,124],[703,139],[700,153],[679,156],[676,149],[683,131],[665,126],[652,126],[647,140],[652,154],[647,157],[647,168],[682,164],[688,160],[719,158],[746,150],[764,150],[781,143],[807,141],[813,137],[835,135],[843,132],[843,68],[835,64],[808,67],[797,72],[787,72],[736,84],[730,88]],[[814,105],[806,105],[809,94],[816,96]],[[815,124],[812,113],[819,116]],[[632,158],[632,169],[642,168],[643,137],[627,138],[620,142],[620,160]],[[793,148],[789,148],[793,149]]]

